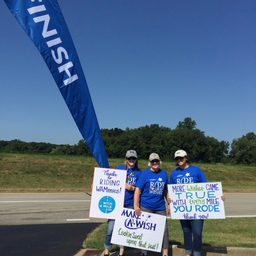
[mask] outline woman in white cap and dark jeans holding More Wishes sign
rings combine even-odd
[[[190,165],[191,159],[188,158],[187,153],[184,150],[177,150],[175,152],[174,159],[176,161],[177,168],[172,171],[169,184],[207,182],[202,170],[197,166]],[[222,195],[221,199],[225,201],[225,195]],[[201,256],[204,220],[180,219],[180,223],[184,235],[186,256],[191,255],[192,248],[194,256]]]

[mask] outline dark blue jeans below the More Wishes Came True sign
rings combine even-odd
[[[181,227],[184,235],[184,244],[186,254],[192,253],[194,250],[195,256],[201,256],[202,250],[202,230],[203,230],[203,219],[180,219]],[[192,243],[193,234],[193,243]]]

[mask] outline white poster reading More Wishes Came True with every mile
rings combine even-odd
[[[172,219],[225,219],[221,182],[168,184]]]

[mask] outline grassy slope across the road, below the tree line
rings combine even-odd
[[[110,168],[124,159],[110,158]],[[139,159],[139,168],[148,161]],[[163,162],[170,177],[174,162]],[[208,182],[221,181],[223,191],[256,192],[256,167],[199,163]],[[0,153],[0,191],[90,191],[93,157]]]

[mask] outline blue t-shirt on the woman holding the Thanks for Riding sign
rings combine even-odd
[[[127,178],[133,173],[136,167],[133,167],[132,169],[128,169],[127,171]],[[116,169],[119,170],[127,170],[124,165],[118,165]],[[133,173],[133,176],[128,180],[127,184],[135,186],[138,178],[140,177],[140,174],[142,174],[142,170],[138,169],[135,173]],[[124,207],[127,206],[133,206],[133,197],[134,197],[134,191],[125,189],[125,195],[124,195]]]

